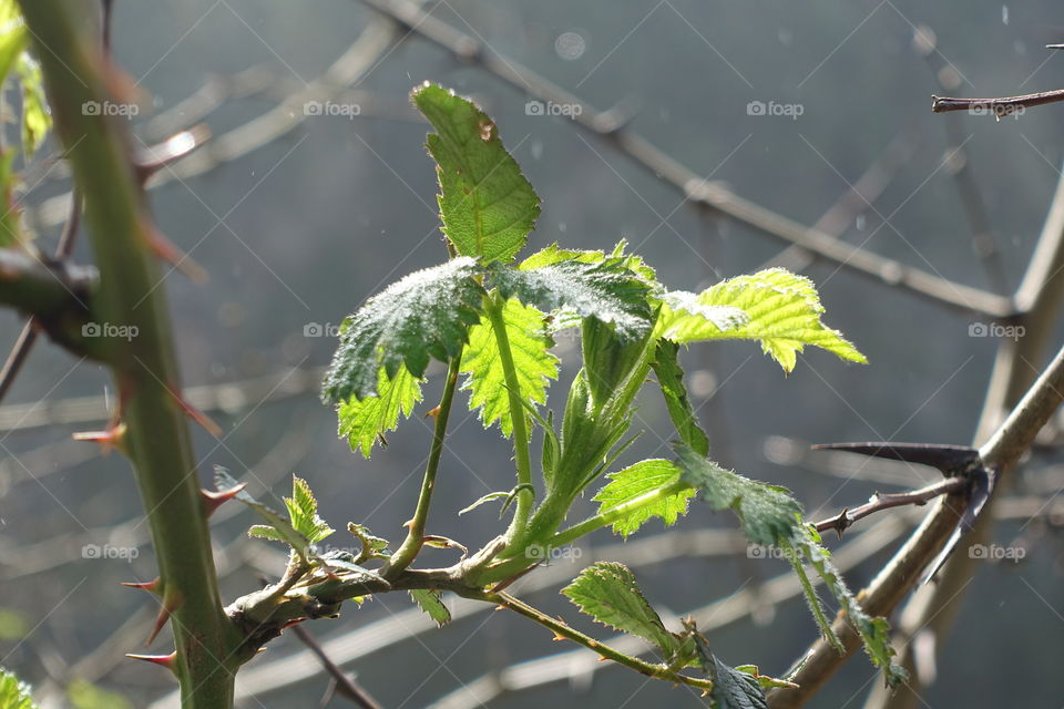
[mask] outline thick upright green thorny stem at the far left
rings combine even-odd
[[[229,709],[241,634],[218,595],[206,510],[200,494],[188,423],[180,392],[165,289],[151,250],[151,226],[129,150],[124,121],[89,115],[88,102],[111,100],[111,71],[88,41],[94,7],[62,0],[20,0],[33,37],[100,269],[91,302],[96,322],[129,326],[136,337],[101,343],[126,424],[122,446],[133,463],[160,568],[163,603],[172,609],[185,709]],[[75,29],[76,28],[76,29]],[[133,330],[132,328],[135,328]]]

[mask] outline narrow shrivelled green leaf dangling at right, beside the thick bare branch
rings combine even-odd
[[[819,535],[808,526],[802,525],[796,535],[794,545],[801,551],[809,565],[823,580],[825,587],[835,596],[839,607],[846,613],[847,619],[861,636],[864,653],[876,667],[883,670],[887,684],[897,687],[908,679],[908,672],[892,658],[894,648],[890,644],[890,625],[884,618],[872,617],[864,613],[857,598],[850,593],[842,575],[831,563],[831,553],[820,545]]]

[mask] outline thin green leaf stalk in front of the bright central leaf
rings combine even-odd
[[[535,494],[532,489],[532,456],[529,453],[528,413],[521,401],[521,384],[518,381],[518,369],[513,363],[513,352],[510,350],[510,339],[507,336],[507,322],[502,311],[507,301],[502,296],[489,296],[485,299],[488,319],[499,343],[499,363],[502,366],[503,379],[507,382],[507,395],[510,399],[510,420],[513,425],[513,454],[518,469],[516,504],[513,522],[507,531],[507,543],[513,544],[524,537],[532,515],[532,503]]]

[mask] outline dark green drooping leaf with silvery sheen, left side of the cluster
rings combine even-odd
[[[321,398],[339,403],[377,392],[378,372],[395,378],[402,364],[420,379],[429,358],[447,362],[480,320],[477,261],[460,257],[415,271],[366,301],[344,320],[340,345]]]

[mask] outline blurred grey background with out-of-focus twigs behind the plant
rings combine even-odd
[[[755,343],[693,348],[685,356],[688,384],[722,463],[790,487],[821,518],[877,490],[932,482],[937,473],[811,454],[809,443],[971,442],[998,345],[979,337],[985,322],[794,249],[780,256],[786,243],[685,204],[682,191],[617,143],[577,126],[571,105],[530,104],[529,91],[553,82],[628,121],[627,131],[694,174],[799,224],[818,224],[961,284],[1011,292],[1060,177],[1064,109],[995,122],[932,114],[930,96],[1064,85],[1064,53],[1044,49],[1064,41],[1058,3],[440,0],[423,7],[434,19],[426,27],[442,23],[512,60],[494,65],[514,80],[461,61],[356,0],[115,6],[115,59],[143,92],[131,117],[134,133],[152,143],[205,123],[213,134],[160,173],[151,194],[161,229],[209,273],[206,285],[180,273],[162,284],[188,395],[225,430],[221,439],[195,431],[205,481],[221,464],[279,505],[296,472],[335,527],[354,521],[391,540],[403,533],[428,452],[422,417],[438,398],[439,377],[426,403],[370,461],[337,439],[317,382],[347,314],[401,275],[446,258],[427,126],[407,102],[423,80],[473,96],[498,122],[543,199],[529,251],[555,240],[608,248],[626,238],[665,282],[690,290],[769,261],[814,279],[826,322],[869,364],[809,351],[785,377]],[[311,101],[320,111],[306,107]],[[41,248],[51,250],[68,178],[47,160],[31,175],[27,217]],[[851,186],[862,176],[856,197]],[[84,240],[78,256],[90,260]],[[0,348],[20,328],[0,311]],[[559,338],[560,391],[575,372],[576,345]],[[146,707],[173,690],[164,672],[122,657],[143,651],[155,613],[146,595],[117,586],[155,573],[129,465],[70,440],[102,424],[112,393],[102,369],[41,343],[0,407],[0,656],[49,706]],[[549,400],[559,413],[563,397]],[[644,397],[638,417],[645,433],[626,453],[630,462],[664,454],[669,435],[659,395]],[[473,547],[500,530],[494,511],[456,513],[512,486],[511,451],[464,408],[452,421],[429,531]],[[1060,458],[1052,448],[1037,451],[1009,491],[1021,503],[1040,503],[1034,516],[1017,512],[995,531],[996,544],[1023,548],[1024,558],[979,565],[956,599],[960,620],[941,647],[925,706],[1060,706]],[[260,575],[278,573],[284,555],[246,537],[248,512],[225,508],[221,516],[213,531],[228,602],[256,588]],[[891,512],[861,522],[841,543],[829,540],[832,548],[858,544],[839,557],[850,586],[863,586],[918,520],[919,511]],[[655,542],[662,533],[669,536]],[[330,542],[346,544],[340,536]],[[761,586],[786,576],[787,565],[750,558],[728,515],[693,505],[673,530],[651,523],[620,544],[607,533],[593,536],[575,558],[555,561],[538,572],[539,580],[532,575],[521,595],[607,638],[556,593],[603,554],[630,563],[655,606],[677,615],[702,609],[699,626],[730,664],[779,675],[816,637],[800,598],[779,583]],[[432,565],[453,561],[449,551],[422,557]],[[461,617],[452,625],[428,629],[408,598],[392,594],[308,629],[390,709],[430,706],[470,685],[485,706],[507,709],[702,706],[684,688],[584,656],[519,665],[526,671],[514,674],[508,668],[574,648],[516,616],[454,609]],[[170,647],[164,631],[153,650]],[[530,688],[502,691],[500,677]],[[811,706],[861,706],[878,681],[855,657]],[[289,633],[238,684],[254,695],[243,707],[315,707],[328,678]],[[345,702],[334,698],[328,706]],[[443,706],[478,703],[457,695]]]

